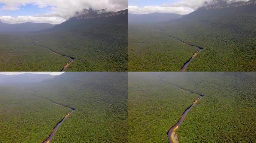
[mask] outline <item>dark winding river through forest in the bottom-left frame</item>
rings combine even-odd
[[[35,91],[35,90],[31,90],[31,89],[30,89],[30,91],[31,91],[31,92],[35,92],[36,94],[38,94],[38,92]],[[38,96],[38,95],[35,95],[35,96],[40,97],[40,98],[44,98],[44,99],[48,99],[49,101],[53,102],[53,103],[56,104],[56,105],[63,106],[63,107],[68,107],[68,106],[65,106],[65,105],[58,104],[58,103],[52,101],[52,100],[49,99],[49,98],[45,98],[45,97]],[[73,111],[75,110],[75,108],[72,108],[72,107],[68,107],[68,108],[70,108],[71,111],[68,112],[68,113],[64,116],[64,118],[63,118],[61,121],[59,121],[59,122],[57,123],[57,125],[55,125],[55,127],[52,129],[51,134],[49,135],[49,137],[48,137],[47,139],[45,139],[42,143],[51,143],[51,140],[53,139],[53,137],[54,137],[55,133],[57,132],[58,128],[60,127],[60,125],[61,125],[61,124],[63,123],[63,121],[64,121],[65,119],[67,119],[67,117],[68,117],[70,114],[72,114]]]

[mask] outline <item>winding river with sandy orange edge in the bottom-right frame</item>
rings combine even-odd
[[[198,94],[199,95],[199,98],[196,99],[193,104],[191,104],[184,112],[183,114],[181,115],[179,121],[173,125],[167,132],[167,136],[168,136],[168,142],[169,143],[178,143],[178,135],[175,135],[175,131],[177,130],[177,128],[180,127],[180,125],[182,124],[183,120],[186,118],[186,115],[188,114],[188,112],[191,110],[191,108],[198,102],[202,99],[202,97],[204,97],[204,95],[202,95],[201,93],[196,93],[196,92],[193,92],[191,90],[187,90],[187,89],[184,89],[182,88],[181,86],[179,85],[175,85],[173,83],[168,83],[168,82],[163,82],[163,80],[165,80],[164,77],[160,77],[160,76],[157,76],[159,77],[161,80],[162,80],[162,83],[166,83],[166,84],[169,84],[169,85],[173,85],[173,86],[177,86],[178,88],[182,89],[183,91],[185,92],[190,92],[190,93],[194,93],[194,94]]]

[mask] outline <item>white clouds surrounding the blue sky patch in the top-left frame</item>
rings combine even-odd
[[[0,3],[5,4],[1,10],[18,10],[20,6],[33,4],[39,8],[50,7],[50,13],[40,15],[31,15],[31,17],[21,15],[23,17],[10,18],[8,23],[19,23],[19,21],[39,20],[38,22],[48,21],[48,23],[61,23],[61,18],[68,20],[73,17],[75,12],[81,12],[83,9],[105,9],[107,11],[118,11],[128,7],[128,0],[0,0]],[[36,18],[38,17],[38,18]],[[50,19],[54,18],[54,19]],[[55,22],[52,22],[54,20]],[[28,22],[28,21],[26,21]]]

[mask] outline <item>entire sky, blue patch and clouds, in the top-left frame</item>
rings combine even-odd
[[[0,20],[59,24],[90,7],[116,12],[128,9],[128,0],[0,0]]]

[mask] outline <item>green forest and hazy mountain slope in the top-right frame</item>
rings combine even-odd
[[[180,19],[151,25],[129,23],[129,71],[180,70],[196,49],[167,36],[203,48],[186,71],[255,71],[255,19],[254,5],[200,8]],[[159,34],[158,28],[166,32]]]

